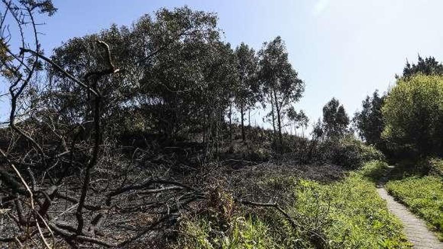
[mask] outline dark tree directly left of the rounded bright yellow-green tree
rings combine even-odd
[[[358,135],[367,143],[376,146],[382,143],[381,135],[384,127],[382,105],[385,98],[386,96],[380,97],[377,90],[372,97],[366,96],[366,99],[362,101],[362,110],[356,112],[352,120],[358,130]]]

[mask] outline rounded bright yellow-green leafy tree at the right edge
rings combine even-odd
[[[382,111],[382,137],[391,148],[420,155],[443,151],[443,76],[399,79]]]

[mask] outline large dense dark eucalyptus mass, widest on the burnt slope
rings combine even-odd
[[[196,106],[201,104],[205,58],[209,47],[219,40],[216,19],[212,13],[187,7],[161,9],[154,17],[142,16],[130,27],[113,25],[98,34],[70,39],[54,50],[52,59],[72,75],[81,76],[105,59],[94,41],[107,42],[117,66],[125,68],[98,86],[108,130],[121,130],[123,127],[116,125],[127,123],[127,127],[141,126],[174,137],[192,127],[190,123],[199,123],[191,113],[198,117],[201,111]],[[85,100],[73,98],[84,90],[58,71],[48,70],[48,89],[56,93],[52,103],[57,103],[54,108],[60,116],[88,120]],[[64,94],[67,92],[77,94]]]

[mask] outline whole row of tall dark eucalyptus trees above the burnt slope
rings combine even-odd
[[[115,66],[123,69],[96,86],[103,96],[103,129],[110,136],[145,132],[174,141],[202,134],[203,142],[214,141],[222,131],[232,137],[238,110],[245,140],[245,116],[257,104],[270,110],[268,121],[280,142],[285,122],[307,124],[306,115],[294,109],[304,82],[280,37],[263,43],[258,52],[244,43],[234,48],[221,40],[215,14],[187,7],[162,9],[130,27],[113,25],[70,39],[51,59],[83,77],[106,59],[96,40],[110,44]],[[52,65],[45,69],[49,80],[36,95],[47,98],[39,112],[65,124],[89,120],[92,112],[85,107],[90,99],[77,98],[88,95],[85,89]]]

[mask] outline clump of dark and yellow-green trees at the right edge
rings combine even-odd
[[[406,62],[396,85],[362,102],[353,118],[367,143],[393,159],[441,156],[443,151],[443,65],[434,57]]]

